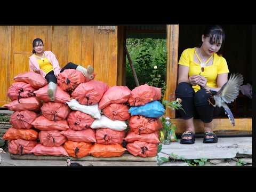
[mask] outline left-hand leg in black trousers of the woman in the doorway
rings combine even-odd
[[[185,120],[186,130],[195,133],[194,127],[194,89],[186,82],[181,82],[175,90],[176,98],[182,99],[181,105],[185,110],[178,110],[182,119]],[[191,139],[191,137],[183,137],[183,139]]]

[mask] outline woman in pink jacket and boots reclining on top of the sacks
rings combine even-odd
[[[36,38],[33,41],[33,55],[29,57],[29,70],[41,74],[49,83],[47,94],[51,101],[55,99],[57,89],[57,77],[65,69],[76,69],[81,71],[85,77],[93,79],[93,68],[89,65],[87,69],[74,63],[67,63],[62,69],[55,55],[51,51],[44,51],[42,39]]]

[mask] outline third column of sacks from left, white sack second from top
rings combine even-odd
[[[91,80],[79,84],[71,93],[73,99],[67,102],[73,111],[68,116],[69,130],[61,134],[68,138],[64,148],[68,155],[82,158],[90,154],[96,143],[95,130],[91,128],[94,119],[100,119],[98,103],[108,90],[106,83]]]

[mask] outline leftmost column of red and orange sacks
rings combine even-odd
[[[34,92],[47,82],[34,72],[20,74],[14,77],[14,81],[17,83],[13,83],[7,92],[12,101],[4,107],[15,112],[10,118],[12,127],[3,138],[9,140],[11,154],[31,154],[31,149],[37,145],[38,139],[38,132],[33,129],[32,123],[39,116],[36,112],[42,106]]]

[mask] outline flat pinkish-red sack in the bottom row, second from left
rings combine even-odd
[[[62,146],[45,147],[39,143],[30,152],[34,155],[68,156],[67,151]]]

